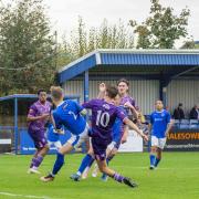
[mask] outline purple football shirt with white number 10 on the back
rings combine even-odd
[[[126,117],[123,111],[104,100],[92,100],[84,103],[83,107],[92,109],[93,136],[98,136],[104,140],[112,139],[112,128],[116,117],[122,121]]]

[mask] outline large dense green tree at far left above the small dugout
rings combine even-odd
[[[0,4],[0,93],[32,93],[54,78],[54,39],[43,0]]]

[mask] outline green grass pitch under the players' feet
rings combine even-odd
[[[135,179],[139,187],[130,189],[108,179],[92,178],[74,182],[69,179],[83,155],[69,155],[55,180],[44,184],[38,175],[28,175],[31,156],[0,156],[0,199],[46,196],[50,199],[198,199],[199,154],[165,153],[157,170],[148,169],[148,154],[118,154],[111,167]],[[46,156],[40,170],[51,170],[55,156]],[[4,196],[9,192],[21,196]]]

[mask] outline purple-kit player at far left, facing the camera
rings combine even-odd
[[[28,170],[29,174],[39,174],[38,167],[49,151],[48,140],[44,134],[45,124],[50,117],[51,103],[46,101],[46,92],[44,90],[40,90],[38,96],[39,101],[31,105],[27,118],[28,133],[36,148]]]

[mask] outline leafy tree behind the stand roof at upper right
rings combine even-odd
[[[188,35],[187,25],[190,11],[182,9],[179,15],[174,9],[163,7],[159,0],[151,0],[150,15],[142,23],[135,20],[129,23],[138,34],[136,48],[143,49],[172,49],[175,41]]]

